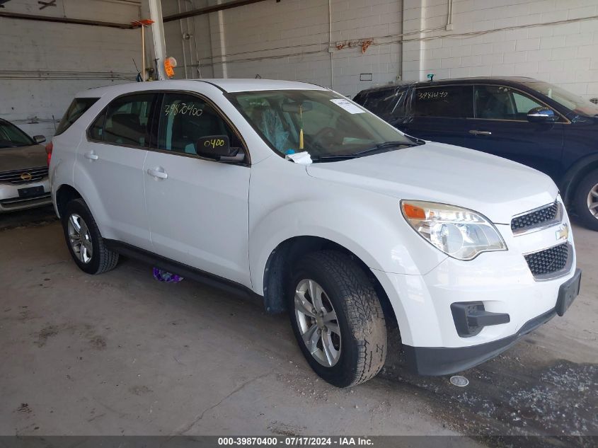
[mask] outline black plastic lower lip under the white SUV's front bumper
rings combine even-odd
[[[517,340],[550,321],[554,316],[556,316],[556,309],[546,311],[546,313],[527,321],[514,335],[490,343],[460,348],[403,345],[403,350],[409,369],[415,373],[433,377],[454,374],[471,369],[471,367],[500,355]]]

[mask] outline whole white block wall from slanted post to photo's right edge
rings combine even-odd
[[[426,79],[428,73],[436,79],[533,76],[587,98],[598,96],[598,20],[575,21],[598,16],[598,0],[454,0],[452,30],[446,29],[449,0],[403,1],[403,18],[401,0],[331,1],[333,45],[373,39],[365,54],[359,48],[335,49],[335,90],[353,96],[362,88],[396,81],[401,74],[397,42],[406,33],[405,80]],[[217,3],[178,2],[183,10]],[[162,0],[163,10],[176,12],[178,2]],[[217,16],[211,13],[183,23],[184,30],[195,23],[204,77],[259,74],[330,86],[328,1],[268,0]],[[568,20],[575,22],[541,25]],[[178,54],[180,26],[169,23],[166,31],[167,49]],[[466,34],[476,32],[483,34]],[[190,58],[188,52],[188,61],[197,64],[195,48],[193,53]],[[372,81],[360,81],[362,73],[372,73]],[[179,68],[177,76],[185,77],[184,71]],[[197,77],[195,68],[188,76]]]

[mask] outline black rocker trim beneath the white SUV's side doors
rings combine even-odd
[[[263,297],[259,294],[255,294],[251,289],[240,283],[227,280],[226,278],[210,274],[209,272],[193,268],[192,266],[183,263],[178,263],[178,261],[163,257],[157,253],[146,251],[145,249],[132,246],[131,244],[122,243],[122,241],[113,239],[104,239],[104,241],[111,251],[115,251],[130,258],[135,258],[143,263],[154,265],[156,268],[174,272],[183,277],[188,277],[218,289],[224,289],[233,294],[241,294],[243,296],[255,297],[263,300]]]

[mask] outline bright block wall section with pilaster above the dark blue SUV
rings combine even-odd
[[[531,76],[586,98],[598,97],[597,0],[406,0],[406,18],[438,39],[410,42],[405,79]],[[572,21],[558,25],[541,25]],[[534,26],[527,26],[534,25]],[[474,33],[479,33],[478,35]]]

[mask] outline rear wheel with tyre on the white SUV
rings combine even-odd
[[[64,207],[62,229],[71,257],[79,269],[96,275],[116,267],[118,253],[106,247],[84,200],[71,200]]]

